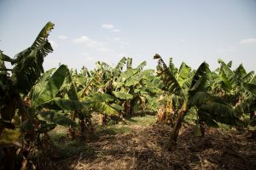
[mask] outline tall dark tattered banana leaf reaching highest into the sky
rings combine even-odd
[[[53,52],[53,48],[47,39],[49,31],[53,27],[54,24],[48,22],[40,31],[32,46],[15,55],[12,62],[14,68],[11,79],[22,94],[27,94],[38,78],[41,77],[41,74],[44,73],[44,57]]]

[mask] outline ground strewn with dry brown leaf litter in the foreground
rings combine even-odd
[[[86,151],[52,163],[60,169],[256,169],[256,143],[248,133],[207,128],[196,137],[183,123],[177,147],[166,150],[171,128],[132,124],[129,132],[104,134],[86,143]]]

